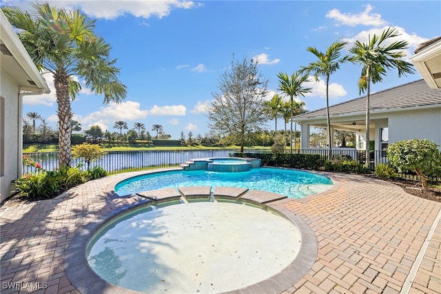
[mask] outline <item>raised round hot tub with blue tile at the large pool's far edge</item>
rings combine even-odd
[[[237,173],[260,168],[260,159],[241,157],[218,157],[192,159],[182,165],[184,170],[207,170],[217,173]]]

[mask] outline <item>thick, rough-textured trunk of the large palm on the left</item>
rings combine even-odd
[[[69,97],[69,77],[64,72],[54,74],[54,87],[57,94],[57,115],[59,119],[58,146],[60,150],[59,166],[70,166],[72,164],[72,153],[70,150],[70,135],[72,126],[72,110]]]

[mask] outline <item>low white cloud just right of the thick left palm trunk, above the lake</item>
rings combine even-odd
[[[106,106],[101,106],[100,110],[95,111],[83,117],[74,115],[73,119],[78,121],[83,128],[99,125],[103,130],[112,128],[115,121],[134,121],[136,119],[145,119],[147,110],[141,110],[141,104],[135,101],[124,101],[121,104],[110,102]]]

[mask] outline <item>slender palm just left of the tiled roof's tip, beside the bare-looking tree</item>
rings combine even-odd
[[[307,75],[301,75],[300,72],[295,72],[289,77],[285,72],[279,72],[278,75],[278,90],[289,96],[291,105],[291,133],[289,134],[289,153],[292,153],[292,118],[294,116],[294,97],[305,96],[306,93],[311,92],[311,88],[302,86],[308,80]]]

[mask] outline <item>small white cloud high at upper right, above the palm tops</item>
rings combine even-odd
[[[334,8],[333,10],[329,10],[325,17],[336,20],[336,26],[386,26],[387,21],[381,18],[381,14],[371,13],[372,9],[373,7],[369,4],[367,4],[365,11],[358,13],[344,13]]]

